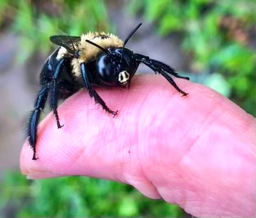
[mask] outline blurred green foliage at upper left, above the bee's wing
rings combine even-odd
[[[49,53],[53,34],[79,36],[84,32],[109,28],[103,0],[0,1],[0,25],[11,18],[11,27],[20,35],[25,62],[36,50]]]

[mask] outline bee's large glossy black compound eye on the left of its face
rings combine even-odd
[[[102,83],[109,86],[116,85],[116,76],[114,74],[114,69],[112,66],[112,60],[108,55],[102,55],[96,64],[97,76],[100,78]]]

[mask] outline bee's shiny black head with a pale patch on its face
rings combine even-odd
[[[97,76],[107,86],[128,86],[136,70],[135,56],[128,48],[116,48],[97,61]]]

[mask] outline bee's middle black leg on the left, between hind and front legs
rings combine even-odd
[[[62,67],[65,64],[65,60],[66,60],[65,58],[60,60],[60,62],[58,63],[54,71],[52,81],[50,81],[50,109],[53,111],[53,114],[55,115],[58,129],[62,128],[63,126],[63,125],[60,125],[60,118],[58,115],[57,108],[58,108],[58,101],[60,100],[59,76],[60,76],[60,72],[62,71]]]

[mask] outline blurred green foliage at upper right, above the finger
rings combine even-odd
[[[255,50],[246,39],[255,23],[254,6],[252,0],[133,0],[129,11],[156,22],[161,36],[181,33],[182,48],[194,58],[191,68],[222,74],[231,88],[224,93],[255,115]]]

